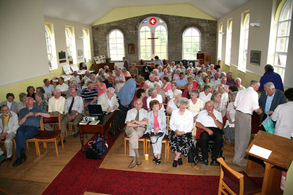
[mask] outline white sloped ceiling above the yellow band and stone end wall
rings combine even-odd
[[[249,0],[42,0],[44,16],[92,25],[118,7],[190,4],[219,19]]]

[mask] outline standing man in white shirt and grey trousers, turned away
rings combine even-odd
[[[258,80],[251,80],[247,89],[240,90],[234,101],[235,113],[235,149],[232,163],[239,167],[245,167],[242,162],[245,150],[248,147],[251,137],[251,116],[253,111],[262,114],[258,105],[257,90],[259,88]]]

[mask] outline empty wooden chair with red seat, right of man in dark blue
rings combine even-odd
[[[59,123],[59,130],[54,130],[54,131],[45,131],[44,130],[44,123]],[[55,143],[55,149],[56,149],[56,154],[58,156],[58,148],[57,144],[61,141],[62,143],[62,148],[63,148],[63,139],[62,139],[62,132],[61,132],[61,119],[60,116],[51,116],[49,118],[43,118],[41,117],[41,131],[39,132],[38,136],[36,137],[36,143],[37,143],[37,149],[38,153],[41,156],[41,151],[39,147],[39,142],[41,144],[43,143],[44,148],[47,148],[47,143],[49,142],[54,142]],[[59,140],[57,140],[60,138]]]

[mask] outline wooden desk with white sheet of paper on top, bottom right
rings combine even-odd
[[[251,154],[249,151],[252,145],[271,150],[272,153],[268,159]],[[245,153],[259,158],[265,163],[261,194],[282,194],[280,190],[281,169],[288,170],[293,160],[293,140],[259,131]]]

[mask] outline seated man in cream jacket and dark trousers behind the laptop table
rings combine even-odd
[[[106,93],[103,93],[98,98],[98,104],[102,106],[102,110],[106,112],[115,112],[115,132],[116,130],[124,132],[122,129],[123,123],[125,121],[126,112],[118,110],[119,103],[116,98],[115,89],[109,87]],[[110,127],[109,135],[112,137],[116,137],[113,129],[113,124]]]

